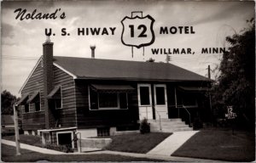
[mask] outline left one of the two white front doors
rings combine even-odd
[[[153,119],[152,111],[152,98],[151,98],[151,86],[150,84],[138,84],[138,106],[139,106],[139,118]]]

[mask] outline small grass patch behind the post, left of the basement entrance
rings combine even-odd
[[[13,135],[13,136],[4,136],[2,138],[6,139],[6,140],[15,141],[15,135]],[[20,143],[26,143],[26,144],[29,144],[29,145],[42,147],[41,138],[39,136],[20,135]]]

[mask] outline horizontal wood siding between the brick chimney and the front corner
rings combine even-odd
[[[63,70],[54,70],[54,86],[61,85],[62,109],[55,110],[55,123],[61,126],[76,126],[76,101],[73,77]]]

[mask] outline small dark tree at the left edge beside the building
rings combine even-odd
[[[9,91],[4,90],[1,93],[1,113],[2,115],[14,115],[13,105],[19,98],[16,98],[15,95],[9,93]]]

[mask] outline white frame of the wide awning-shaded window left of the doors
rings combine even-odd
[[[125,93],[126,95],[126,108],[120,108],[120,100],[119,100],[119,93],[117,93],[117,104],[118,106],[117,107],[100,107],[100,98],[99,98],[99,93],[96,93],[97,94],[97,106],[98,108],[97,109],[91,109],[90,107],[90,86],[88,86],[88,100],[89,100],[89,110],[128,110],[129,109],[129,103],[128,103],[128,93]]]

